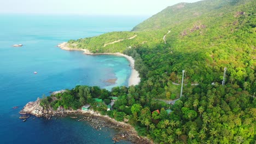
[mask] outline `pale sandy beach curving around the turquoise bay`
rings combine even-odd
[[[134,68],[134,63],[135,60],[131,56],[124,55],[123,53],[116,52],[116,53],[91,53],[87,49],[72,49],[68,47],[67,42],[64,42],[62,44],[59,44],[58,47],[60,47],[62,50],[77,50],[77,51],[84,51],[85,55],[115,55],[115,56],[123,56],[128,59],[130,62],[132,71],[131,71],[131,76],[129,78],[128,86],[135,86],[138,85],[139,82],[141,82],[141,77],[139,77],[139,73],[137,70]]]

